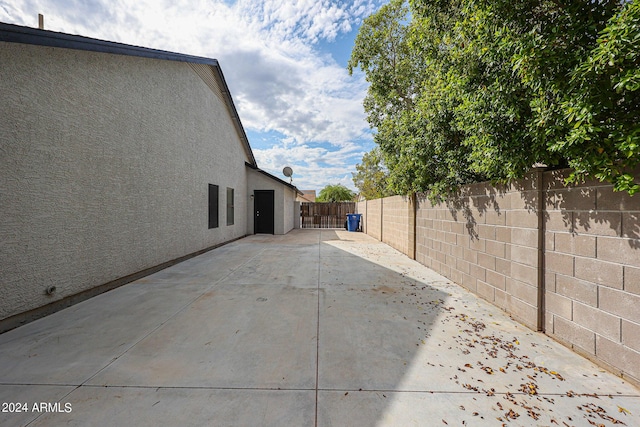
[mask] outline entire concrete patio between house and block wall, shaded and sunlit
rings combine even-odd
[[[0,397],[72,408],[3,426],[640,425],[637,388],[341,230],[250,236],[2,334]]]

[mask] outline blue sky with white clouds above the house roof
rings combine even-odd
[[[367,83],[346,64],[386,0],[0,0],[0,21],[216,58],[258,165],[300,189],[353,187],[373,148]]]

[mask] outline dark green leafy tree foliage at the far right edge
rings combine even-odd
[[[553,149],[569,153],[580,180],[593,175],[630,194],[640,191],[632,171],[640,163],[640,1],[627,3],[600,33],[597,46],[572,74],[563,103],[568,136]]]

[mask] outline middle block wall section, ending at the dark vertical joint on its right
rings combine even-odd
[[[539,329],[537,174],[510,186],[464,188],[432,205],[419,198],[416,259]]]

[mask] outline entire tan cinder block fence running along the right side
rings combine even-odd
[[[363,230],[640,384],[640,195],[534,170],[432,204],[359,202]],[[636,173],[636,176],[640,176]]]

